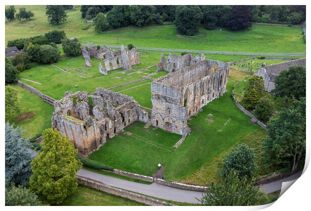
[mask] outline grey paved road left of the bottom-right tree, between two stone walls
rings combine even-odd
[[[111,176],[106,176],[102,174],[98,174],[92,171],[88,171],[85,169],[80,169],[77,173],[79,176],[87,177],[90,179],[95,179],[98,181],[102,181],[107,185],[111,185],[113,187],[118,187],[121,189],[126,189],[132,192],[137,192],[157,198],[163,198],[167,200],[173,201],[181,201],[188,203],[199,203],[196,199],[202,197],[202,192],[190,191],[190,190],[180,190],[172,187],[160,185],[157,183],[152,184],[142,184],[137,182],[131,182],[124,179],[119,179]]]

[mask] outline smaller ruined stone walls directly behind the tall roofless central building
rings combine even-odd
[[[161,60],[158,63],[158,71],[166,70],[169,73],[175,72],[178,69],[188,67],[199,61],[205,59],[204,54],[200,54],[196,57],[193,57],[192,54],[185,54],[183,56],[169,53],[169,58],[166,59],[163,54],[161,54]]]

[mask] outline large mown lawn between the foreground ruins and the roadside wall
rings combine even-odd
[[[219,154],[227,152],[243,137],[260,129],[258,125],[249,122],[249,117],[230,98],[234,83],[235,80],[230,78],[228,91],[192,117],[188,122],[192,129],[191,135],[178,149],[173,146],[180,136],[153,127],[144,129],[143,123],[135,122],[124,129],[131,135],[119,134],[89,158],[114,168],[149,176],[156,173],[157,164],[161,163],[165,179],[186,179]],[[205,120],[208,114],[213,114],[210,118],[214,123]]]

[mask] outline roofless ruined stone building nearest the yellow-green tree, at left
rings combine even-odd
[[[94,93],[66,92],[54,103],[52,128],[88,156],[134,121],[147,122],[148,113],[132,97],[99,87]]]

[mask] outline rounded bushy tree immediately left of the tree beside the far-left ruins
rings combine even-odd
[[[50,45],[41,45],[38,61],[43,64],[58,62],[60,57],[59,50]]]

